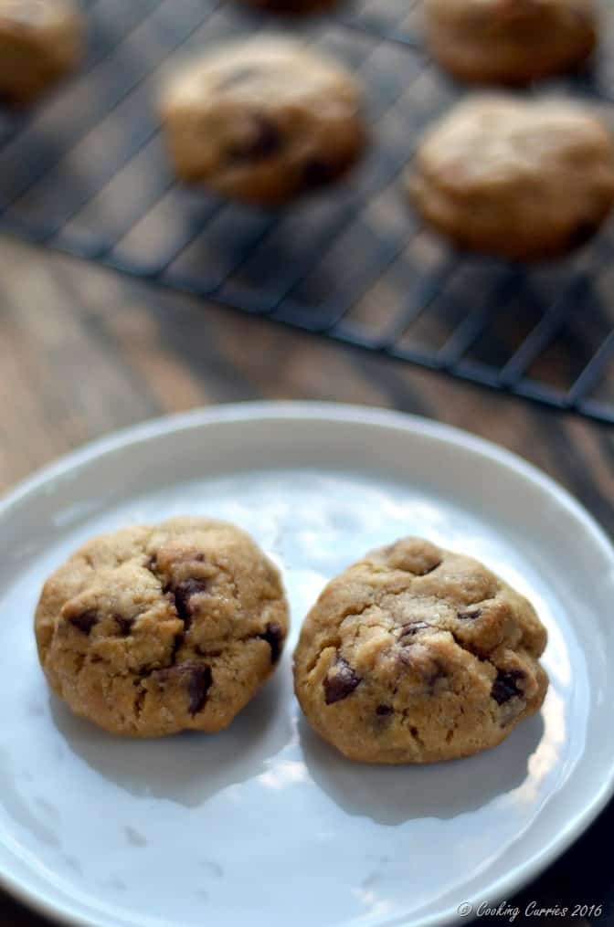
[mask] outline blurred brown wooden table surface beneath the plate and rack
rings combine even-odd
[[[614,532],[612,428],[0,238],[0,491],[116,428],[195,406],[258,399],[365,403],[467,428],[542,467]],[[612,827],[614,803],[510,902],[521,910],[531,900],[540,908],[601,904],[600,923],[614,924]],[[529,921],[523,914],[515,922],[586,923],[569,915]],[[45,923],[0,893],[2,927]]]

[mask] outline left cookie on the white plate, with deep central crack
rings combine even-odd
[[[84,544],[45,582],[35,631],[75,714],[159,737],[230,724],[275,669],[288,604],[249,535],[174,518]]]

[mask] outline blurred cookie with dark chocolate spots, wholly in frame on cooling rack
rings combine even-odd
[[[332,183],[365,134],[352,76],[284,38],[211,52],[169,83],[161,113],[178,176],[250,203]]]

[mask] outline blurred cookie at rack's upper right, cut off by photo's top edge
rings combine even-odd
[[[426,0],[433,55],[465,81],[527,83],[593,51],[593,0]]]

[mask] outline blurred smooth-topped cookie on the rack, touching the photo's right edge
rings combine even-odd
[[[476,96],[428,131],[405,183],[423,218],[459,247],[551,258],[608,216],[614,145],[580,105]]]

